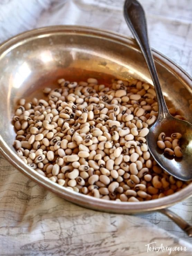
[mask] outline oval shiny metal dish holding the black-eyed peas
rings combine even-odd
[[[192,122],[189,101],[191,77],[162,54],[153,51],[167,104],[181,108]],[[112,77],[131,77],[152,83],[144,58],[133,39],[99,29],[53,26],[31,30],[0,46],[0,149],[8,161],[30,179],[57,195],[83,207],[134,213],[168,207],[192,194],[192,184],[172,195],[146,202],[116,202],[73,192],[40,176],[15,154],[15,131],[11,124],[14,106],[21,97],[29,99],[61,77],[78,81],[88,77],[109,83]],[[102,79],[101,79],[102,78]]]

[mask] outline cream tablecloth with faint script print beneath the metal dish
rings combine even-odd
[[[192,74],[192,1],[140,0],[150,43]],[[122,0],[0,0],[0,43],[35,27],[93,26],[131,36]],[[1,118],[2,120],[2,118]],[[171,207],[192,224],[192,198]],[[160,247],[147,252],[149,246]],[[41,188],[0,155],[0,255],[191,255],[179,227],[158,212],[126,216],[81,208]]]

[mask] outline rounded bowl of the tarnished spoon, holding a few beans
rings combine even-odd
[[[156,142],[161,132],[165,132],[167,137],[174,132],[182,134],[180,147],[183,157],[167,156],[158,148]],[[189,122],[171,115],[167,115],[166,118],[159,117],[149,129],[147,145],[151,155],[164,170],[183,181],[192,179],[192,126]]]

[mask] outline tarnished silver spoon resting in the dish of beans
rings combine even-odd
[[[147,36],[145,12],[136,0],[126,0],[124,4],[124,17],[134,35],[149,68],[155,87],[158,102],[158,118],[150,127],[147,135],[147,145],[156,162],[169,174],[176,178],[188,181],[192,179],[192,125],[189,122],[172,117],[166,107],[161,86],[158,80],[152,53]],[[174,132],[182,134],[182,158],[168,158],[157,147],[157,138],[161,132],[170,136]]]

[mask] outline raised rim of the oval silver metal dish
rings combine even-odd
[[[116,43],[129,42],[133,45],[135,49],[139,52],[139,48],[135,43],[135,39],[122,35],[120,33],[116,33],[110,30],[103,30],[93,27],[86,27],[86,26],[72,26],[72,25],[60,25],[60,26],[47,26],[37,29],[32,29],[20,33],[16,36],[9,38],[8,40],[4,41],[0,44],[0,55],[11,46],[13,47],[17,42],[23,40],[29,40],[34,38],[39,34],[53,34],[58,33],[59,31],[62,33],[71,32],[71,33],[83,33],[86,35],[97,35],[101,36],[104,39],[112,39],[115,40]],[[17,46],[16,46],[17,47]],[[192,77],[189,73],[184,71],[182,67],[177,65],[174,61],[170,60],[166,55],[159,53],[158,51],[152,49],[155,61],[160,63],[165,67],[169,67],[169,70],[172,72],[178,73],[180,78],[183,82],[192,85]],[[177,69],[177,71],[176,71]],[[191,86],[192,87],[192,86]],[[51,190],[52,192],[56,193],[57,195],[61,196],[67,201],[72,203],[81,205],[86,208],[91,208],[100,211],[108,211],[108,212],[116,212],[116,213],[134,213],[134,212],[143,212],[143,211],[152,211],[161,208],[168,207],[173,205],[177,202],[180,202],[192,195],[192,183],[186,186],[184,189],[180,190],[179,192],[175,192],[172,195],[165,196],[164,198],[160,199],[153,199],[150,201],[142,201],[142,202],[117,202],[112,200],[103,200],[94,198],[92,196],[87,196],[78,192],[73,192],[71,190],[62,187],[51,180],[43,177],[42,175],[35,173],[35,171],[26,166],[24,162],[16,155],[15,152],[6,144],[6,142],[2,139],[0,135],[0,151],[2,155],[19,171],[27,175],[33,181],[36,181],[38,184],[44,186],[46,189]]]

